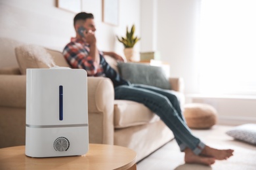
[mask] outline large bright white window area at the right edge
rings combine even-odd
[[[200,92],[256,95],[256,0],[202,0]]]

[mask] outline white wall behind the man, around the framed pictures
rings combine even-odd
[[[82,4],[83,11],[95,15],[100,50],[123,54],[123,46],[117,42],[116,35],[125,35],[126,25],[135,24],[136,33],[140,34],[140,1],[119,1],[118,26],[102,22],[102,0],[82,0]],[[58,9],[55,0],[1,0],[0,37],[62,50],[75,35],[74,16],[74,12]]]

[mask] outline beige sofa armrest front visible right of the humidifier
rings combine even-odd
[[[88,77],[89,142],[114,144],[114,86],[109,78]]]

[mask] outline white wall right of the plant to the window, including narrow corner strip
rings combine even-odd
[[[141,5],[141,32],[142,38],[146,39],[142,39],[141,50],[158,50],[161,60],[171,66],[170,75],[184,78],[185,93],[198,92],[197,34],[200,2],[201,0],[142,0]],[[152,26],[154,24],[157,25],[156,28]],[[156,41],[156,44],[152,41]]]

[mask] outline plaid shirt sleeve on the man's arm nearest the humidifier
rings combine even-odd
[[[93,58],[89,56],[90,49],[87,46],[76,42],[70,42],[63,50],[66,61],[74,69],[85,69],[88,76],[95,76],[97,67],[94,65]]]

